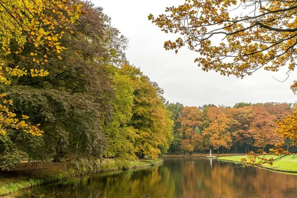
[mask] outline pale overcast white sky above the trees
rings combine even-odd
[[[214,71],[204,72],[194,59],[196,52],[187,48],[177,54],[165,50],[165,41],[178,38],[169,35],[148,21],[148,15],[165,13],[168,6],[183,4],[184,0],[92,0],[96,6],[111,17],[112,25],[128,38],[127,59],[140,67],[150,80],[164,90],[169,102],[179,102],[185,106],[216,104],[233,106],[237,102],[296,102],[297,97],[290,90],[297,74],[288,69],[278,72],[258,70],[244,79],[221,76]],[[273,78],[274,77],[274,78]]]

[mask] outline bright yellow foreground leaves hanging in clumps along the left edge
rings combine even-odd
[[[37,50],[31,52],[31,56],[38,54],[47,57],[45,53],[60,53],[66,48],[58,43],[64,35],[64,31],[57,32],[56,27],[69,29],[83,14],[81,4],[73,4],[67,0],[0,0],[0,52],[4,55],[10,53],[18,54],[23,51],[25,44],[32,44]],[[49,13],[49,10],[52,10]],[[11,44],[17,44],[17,49],[12,51]],[[49,48],[45,48],[49,46]],[[45,51],[46,49],[46,51]],[[20,57],[25,58],[23,55]],[[61,58],[60,56],[58,57]],[[33,57],[34,64],[45,64],[48,60],[37,60]],[[42,62],[41,62],[42,61]],[[49,74],[47,70],[24,68],[11,68],[8,62],[0,61],[0,83],[10,85],[9,76],[21,77],[30,75],[31,77],[44,77]],[[41,136],[43,133],[38,126],[26,123],[24,119],[29,117],[22,115],[21,121],[15,118],[16,114],[10,110],[12,100],[6,100],[6,94],[0,94],[0,135],[6,134],[7,128],[20,129],[32,135]]]

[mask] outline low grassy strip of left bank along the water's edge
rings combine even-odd
[[[99,170],[93,170],[91,172],[82,172],[80,176],[86,176],[91,174],[99,174],[103,172],[111,172],[111,171],[124,171],[124,170],[130,170],[130,169],[138,169],[138,168],[145,168],[149,166],[155,166],[159,165],[163,162],[162,159],[158,159],[157,161],[153,161],[151,159],[140,159],[137,161],[136,165],[129,165],[127,167],[122,168],[100,168]],[[132,163],[132,162],[131,162]],[[109,165],[115,166],[115,164],[112,164],[109,162]],[[12,169],[12,171],[15,171]],[[4,184],[2,187],[0,186],[0,198],[9,198],[10,196],[13,196],[13,194],[17,193],[20,190],[32,188],[35,186],[40,185],[47,185],[53,182],[63,181],[67,179],[77,178],[78,175],[75,175],[72,173],[73,171],[61,171],[57,174],[49,174],[49,175],[42,175],[40,178],[30,178],[30,177],[4,177],[4,180],[11,180]],[[6,172],[6,174],[9,174]],[[15,174],[15,172],[11,172],[11,174]],[[0,178],[0,180],[3,180]],[[2,191],[2,192],[1,192]]]

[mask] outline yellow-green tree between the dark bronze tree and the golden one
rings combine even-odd
[[[105,129],[108,142],[104,155],[106,158],[114,157],[123,166],[129,160],[136,159],[133,145],[136,134],[127,126],[132,117],[134,82],[128,75],[121,73],[120,68],[110,67],[115,99],[111,122]]]

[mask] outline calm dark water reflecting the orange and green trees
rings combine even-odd
[[[297,176],[217,159],[165,159],[155,167],[95,174],[22,192],[20,198],[297,198]]]

